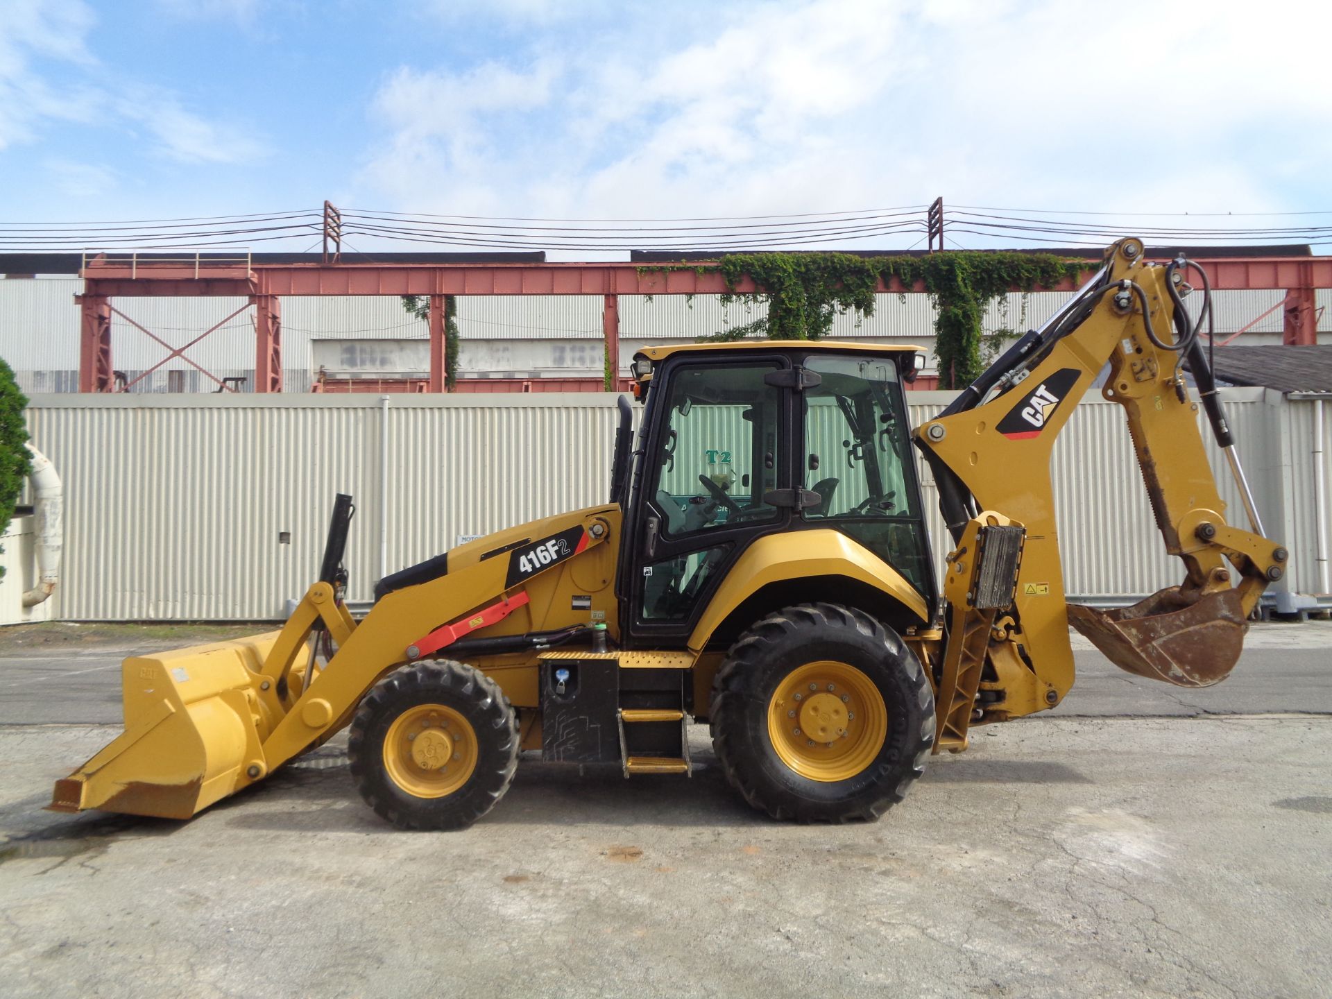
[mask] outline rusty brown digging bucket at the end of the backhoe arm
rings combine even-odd
[[[1191,598],[1172,586],[1107,611],[1071,603],[1068,621],[1122,670],[1177,687],[1208,687],[1231,675],[1248,631],[1233,589]]]

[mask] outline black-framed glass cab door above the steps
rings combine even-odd
[[[678,356],[653,377],[623,562],[634,647],[686,639],[741,553],[791,522],[790,361],[710,358]]]

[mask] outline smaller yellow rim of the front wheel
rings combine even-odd
[[[477,733],[445,705],[417,705],[400,714],[384,737],[384,769],[417,798],[453,794],[477,769]]]

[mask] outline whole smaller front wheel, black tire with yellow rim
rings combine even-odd
[[[461,662],[404,667],[352,719],[356,789],[398,829],[465,829],[509,790],[518,726],[500,686]]]

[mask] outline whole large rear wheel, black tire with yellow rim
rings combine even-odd
[[[924,773],[934,691],[895,631],[859,610],[802,603],[731,646],[710,719],[726,779],[759,811],[872,821]]]

